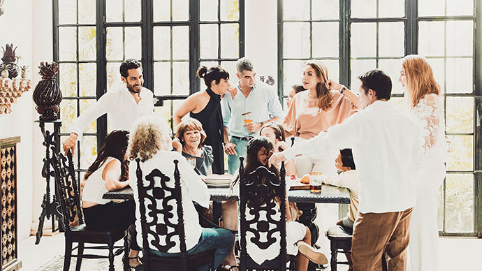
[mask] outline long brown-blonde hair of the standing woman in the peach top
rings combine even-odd
[[[305,66],[311,66],[316,76],[321,80],[316,84],[316,106],[322,110],[328,110],[333,102],[333,92],[326,87],[328,82],[328,68],[321,61],[310,60]]]

